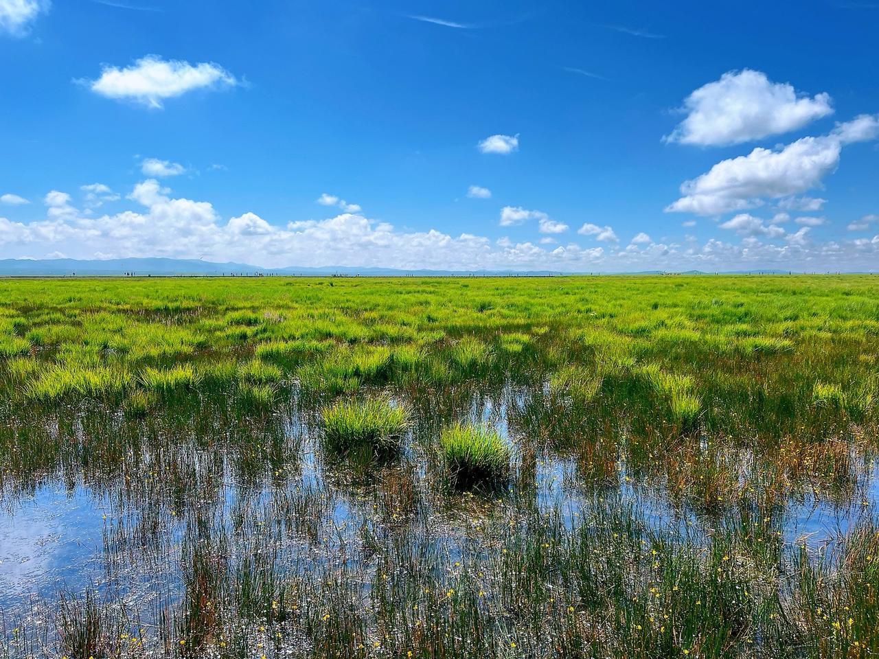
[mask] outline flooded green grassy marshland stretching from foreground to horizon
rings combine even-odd
[[[879,655],[879,278],[0,280],[0,657]]]

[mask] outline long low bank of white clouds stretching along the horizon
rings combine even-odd
[[[72,206],[69,194],[49,192],[45,219],[25,223],[0,218],[0,257],[63,254],[71,258],[204,258],[267,267],[357,265],[560,272],[760,268],[866,271],[876,270],[879,264],[879,235],[820,243],[810,240],[809,227],[778,236],[780,231],[783,233],[781,228],[767,227],[766,222],[747,215],[750,219],[739,220],[729,229],[742,234],[737,244],[715,238],[700,244],[692,238],[684,246],[638,243],[618,249],[559,244],[552,238],[552,243],[542,239],[539,243],[513,243],[508,237],[492,241],[479,235],[448,235],[436,229],[404,231],[351,213],[286,224],[252,212],[227,220],[207,201],[174,198],[155,179],[135,185],[128,198],[142,207],[98,217]],[[585,234],[599,235],[608,230],[612,231],[587,225]],[[783,239],[774,241],[772,235]]]

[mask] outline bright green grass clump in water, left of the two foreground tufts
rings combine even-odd
[[[337,402],[323,410],[324,445],[333,453],[363,446],[376,453],[393,453],[408,427],[406,410],[381,398]]]

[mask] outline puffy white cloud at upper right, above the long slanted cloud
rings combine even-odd
[[[752,69],[724,73],[684,101],[686,119],[665,141],[701,146],[738,144],[788,133],[833,112],[827,94],[797,94],[788,83],[772,83]]]

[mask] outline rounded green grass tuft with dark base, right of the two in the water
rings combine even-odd
[[[510,472],[510,447],[486,425],[454,424],[439,435],[439,452],[454,483],[498,484]]]

